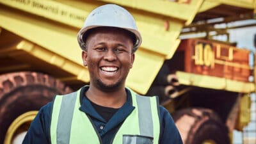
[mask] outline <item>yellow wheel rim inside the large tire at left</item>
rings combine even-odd
[[[16,144],[21,143],[27,131],[24,131],[26,125],[30,125],[32,120],[35,118],[38,111],[28,111],[17,117],[6,132],[4,144]],[[26,129],[28,130],[28,129]]]

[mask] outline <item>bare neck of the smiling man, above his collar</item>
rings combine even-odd
[[[113,92],[104,92],[90,85],[85,95],[95,104],[109,108],[120,108],[127,100],[125,88],[118,88]]]

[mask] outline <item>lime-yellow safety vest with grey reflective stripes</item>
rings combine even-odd
[[[158,143],[160,122],[156,97],[143,97],[130,91],[135,109],[118,129],[113,144],[145,138],[154,138],[150,140]],[[68,95],[56,95],[51,117],[52,144],[102,143],[90,118],[79,110],[80,92],[81,89]]]

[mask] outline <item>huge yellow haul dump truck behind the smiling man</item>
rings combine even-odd
[[[210,39],[228,35],[216,24],[253,19],[253,0],[0,0],[0,143],[20,143],[55,93],[89,83],[76,36],[106,3],[129,10],[143,37],[127,86],[159,95],[184,144],[231,143],[250,121],[250,51]],[[198,32],[207,35],[180,40]]]

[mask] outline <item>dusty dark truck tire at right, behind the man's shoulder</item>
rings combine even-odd
[[[184,144],[230,144],[227,127],[211,109],[182,109],[172,116]]]

